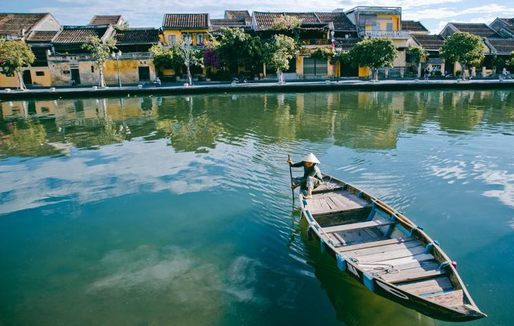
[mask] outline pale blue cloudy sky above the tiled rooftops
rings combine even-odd
[[[159,27],[164,13],[208,12],[223,17],[224,10],[332,11],[355,6],[399,6],[402,19],[423,23],[433,34],[448,23],[491,23],[514,17],[514,0],[17,0],[4,2],[3,12],[51,12],[63,25],[87,24],[95,14],[121,14],[130,27]]]

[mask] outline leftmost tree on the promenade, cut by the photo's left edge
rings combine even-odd
[[[18,75],[19,90],[26,90],[25,83],[23,83],[23,68],[30,67],[35,60],[36,57],[27,43],[0,39],[0,65],[4,74]]]

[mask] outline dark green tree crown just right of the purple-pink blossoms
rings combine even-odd
[[[212,38],[208,48],[216,50],[224,68],[240,63],[256,65],[263,61],[261,39],[245,33],[242,28],[221,28],[221,33]]]

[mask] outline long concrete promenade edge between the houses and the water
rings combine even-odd
[[[426,89],[493,89],[509,88],[514,90],[514,79],[500,81],[499,79],[475,79],[471,81],[457,81],[455,79],[415,81],[415,80],[391,80],[386,79],[377,83],[359,79],[342,81],[290,81],[279,85],[275,82],[250,82],[238,83],[197,83],[191,86],[184,84],[163,84],[156,87],[153,84],[109,87],[105,89],[84,88],[50,88],[19,90],[0,90],[0,100],[23,100],[23,99],[70,99],[99,96],[137,96],[146,94],[207,94],[207,93],[233,93],[233,92],[313,92],[322,90],[426,90]]]

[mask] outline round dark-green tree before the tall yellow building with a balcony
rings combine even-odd
[[[395,43],[385,37],[365,39],[350,50],[353,64],[357,67],[369,67],[375,81],[378,81],[378,68],[393,68],[397,55]]]

